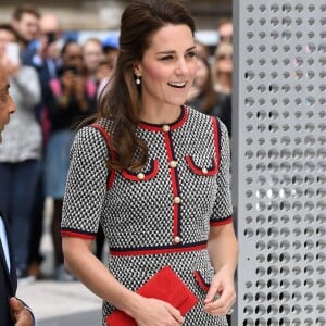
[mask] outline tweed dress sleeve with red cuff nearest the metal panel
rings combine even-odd
[[[220,146],[220,170],[217,173],[217,195],[213,213],[211,215],[211,225],[222,225],[233,221],[233,203],[230,193],[230,152],[229,138],[226,126],[217,120],[217,143]]]

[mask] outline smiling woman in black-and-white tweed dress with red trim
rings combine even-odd
[[[114,325],[114,309],[139,326],[227,325],[235,302],[227,131],[183,105],[197,65],[193,32],[180,3],[133,1],[99,120],[78,131],[72,148],[65,264],[104,300],[103,325]],[[109,268],[91,252],[99,223]],[[186,315],[136,292],[165,266],[197,297]]]

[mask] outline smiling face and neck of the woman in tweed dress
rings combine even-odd
[[[191,29],[166,25],[156,32],[143,59],[135,64],[141,79],[140,120],[168,124],[180,114],[192,85],[197,57]]]

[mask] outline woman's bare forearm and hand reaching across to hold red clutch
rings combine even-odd
[[[184,318],[178,310],[166,302],[143,298],[118,283],[91,252],[91,241],[73,237],[63,238],[66,267],[93,293],[112,303],[137,321],[137,325],[178,326]],[[165,324],[164,324],[165,325]]]

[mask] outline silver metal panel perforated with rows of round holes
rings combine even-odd
[[[233,325],[326,325],[326,1],[235,0]]]

